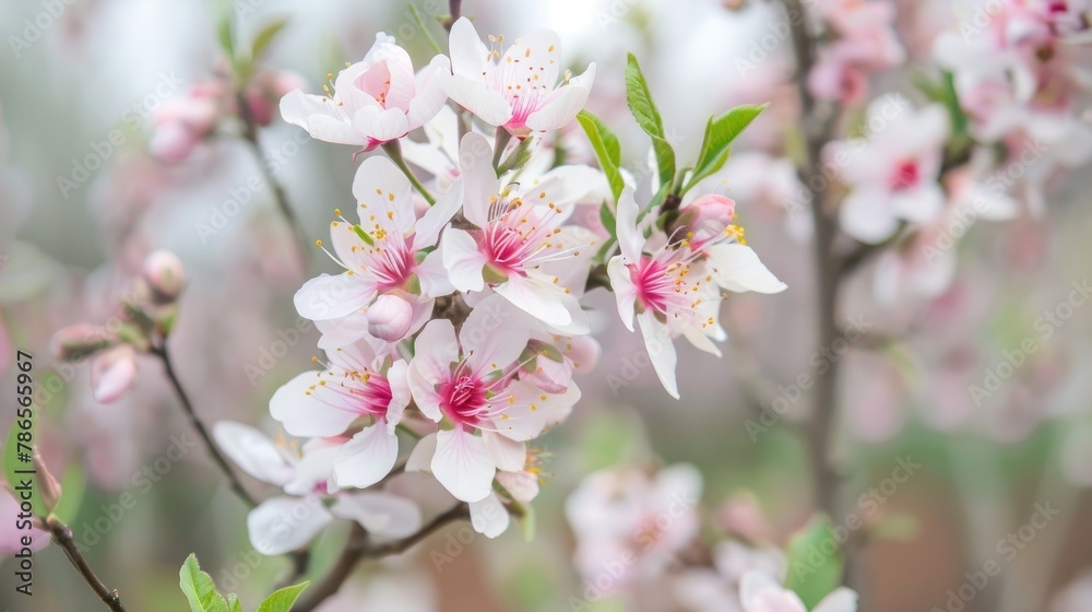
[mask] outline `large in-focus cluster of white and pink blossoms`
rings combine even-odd
[[[723,196],[680,197],[657,224],[660,212],[642,213],[627,186],[610,213],[616,231],[587,223],[612,200],[604,175],[555,166],[543,142],[581,111],[594,66],[562,76],[548,31],[507,49],[503,37],[489,42],[459,20],[450,58],[415,73],[380,34],[363,61],[331,75],[327,95],[282,101],[285,119],[311,137],[387,155],[360,163],[355,205],[335,211],[329,249],[318,243],[344,271],[295,296],[325,356],[276,391],[270,413],[302,442],[216,429],[245,471],[286,493],[250,516],[262,552],[296,549],[334,516],[406,534],[420,513],[387,491],[402,471],[431,474],[468,505],[475,529],[501,533],[538,492],[529,445],[569,415],[580,400],[573,375],[596,365],[587,287],[612,286],[631,330],[637,317],[676,398],[673,340],[719,353],[723,291],[785,289],[745,246]],[[417,128],[427,143],[407,138]],[[314,508],[307,527],[278,537],[301,504]]]

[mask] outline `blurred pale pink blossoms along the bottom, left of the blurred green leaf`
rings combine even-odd
[[[715,517],[725,537],[709,544],[701,536],[701,474],[688,464],[622,466],[587,475],[566,503],[584,580],[570,609],[643,588],[692,612],[809,610],[782,586],[788,561],[753,499],[728,502]],[[857,596],[838,588],[810,610],[856,612]]]

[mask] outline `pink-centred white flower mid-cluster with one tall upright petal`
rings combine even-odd
[[[490,156],[485,137],[463,138],[463,214],[474,228],[444,232],[440,251],[451,284],[464,292],[488,286],[559,331],[586,333],[578,296],[596,238],[580,227],[563,226],[587,191],[586,168],[556,168],[500,190]]]

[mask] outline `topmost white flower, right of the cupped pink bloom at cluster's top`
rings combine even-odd
[[[490,126],[519,138],[565,127],[587,102],[595,78],[592,63],[580,76],[560,73],[561,40],[536,30],[518,38],[501,55],[503,36],[489,36],[486,47],[474,25],[462,17],[451,27],[451,79],[448,96]]]

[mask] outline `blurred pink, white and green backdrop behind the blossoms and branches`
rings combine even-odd
[[[88,367],[56,363],[49,341],[63,326],[109,316],[144,256],[170,249],[190,279],[173,352],[198,413],[272,432],[269,398],[310,366],[318,337],[290,297],[307,276],[334,266],[311,249],[306,273],[286,248],[295,238],[264,183],[256,183],[263,175],[245,141],[209,138],[182,163],[147,154],[156,109],[223,69],[211,4],[0,2],[9,47],[0,50],[4,431],[14,415],[7,398],[14,396],[10,358],[19,349],[35,358],[43,452],[63,474],[66,495],[79,498],[69,523],[104,581],[121,589],[131,610],[186,610],[177,572],[197,552],[213,578],[252,608],[288,563],[253,553],[246,509],[204,450],[189,446],[189,425],[159,364],[140,357],[134,389],[103,404],[92,397]],[[921,101],[911,74],[928,70],[933,40],[960,22],[948,2],[894,4],[907,54],[904,66],[876,76],[874,94]],[[431,36],[441,37],[434,16],[447,13],[447,2],[422,0],[417,9]],[[230,10],[244,38],[287,17],[264,66],[309,92],[328,72],[361,58],[380,31],[394,35],[416,66],[434,54],[400,0],[236,0]],[[833,448],[844,468],[843,494],[865,526],[850,529],[863,540],[853,570],[867,609],[962,610],[950,603],[951,592],[994,560],[999,575],[977,589],[989,598],[975,598],[968,609],[1008,601],[1022,602],[1012,608],[1021,611],[1092,610],[1092,578],[1084,574],[1092,570],[1092,530],[1084,528],[1092,519],[1085,495],[1092,485],[1092,304],[1071,299],[1073,283],[1082,286],[1092,272],[1092,214],[1081,208],[1092,187],[1089,173],[1077,168],[1052,181],[1044,214],[1021,207],[1014,220],[975,224],[954,247],[952,279],[935,295],[904,291],[883,258],[867,261],[847,283],[840,309],[840,319],[858,321],[864,333],[844,351],[817,356],[810,227],[807,215],[793,211],[796,179],[783,163],[784,152],[798,146],[799,104],[780,4],[468,0],[463,12],[483,35],[556,30],[574,72],[594,61],[589,108],[619,132],[626,165],[638,174],[648,141],[626,108],[627,51],[641,59],[682,156],[696,155],[710,115],[772,102],[735,148],[723,178],[748,243],[790,290],[725,301],[731,340],[724,357],[680,350],[681,402],[663,391],[642,360],[640,338],[614,315],[612,297],[595,295],[603,356],[594,374],[578,378],[583,399],[572,419],[542,440],[547,482],[535,502],[535,540],[526,543],[511,530],[497,541],[460,542],[448,536],[466,533],[449,528],[416,553],[363,565],[329,610],[687,610],[673,596],[670,576],[586,608],[573,604],[573,597],[585,598],[585,587],[572,563],[577,538],[566,498],[600,469],[689,463],[703,481],[703,532],[758,530],[756,538],[784,544],[812,508],[805,446],[811,400],[796,381],[821,376],[817,368],[826,360],[842,367]],[[763,46],[763,37],[775,44]],[[740,68],[740,58],[759,68]],[[274,118],[261,129],[260,145],[310,243],[352,197],[356,166],[347,149],[301,133]],[[583,136],[571,136],[571,155],[590,160]],[[895,297],[879,297],[878,283],[892,278]],[[1029,341],[1034,352],[1021,349]],[[182,458],[164,460],[173,445]],[[919,468],[889,486],[906,462]],[[248,484],[260,491],[259,483]],[[120,505],[126,492],[134,499],[130,507]],[[1056,516],[1021,539],[1020,528],[1044,504]],[[848,525],[846,518],[832,520]],[[345,531],[332,529],[320,540],[316,575]],[[1004,545],[1010,533],[1020,544],[1011,544],[1011,555]],[[438,564],[438,552],[458,558]],[[32,599],[13,595],[7,564],[0,573],[5,608],[92,605],[56,546],[36,555]]]

